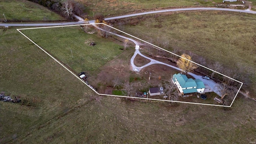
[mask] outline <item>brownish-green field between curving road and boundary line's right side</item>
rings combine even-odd
[[[207,67],[218,61],[233,70],[242,68],[250,74],[250,94],[255,97],[256,15],[206,11],[135,19],[132,25],[122,26],[125,32],[157,46],[168,43],[162,48],[170,51],[192,52],[192,59],[203,56]]]

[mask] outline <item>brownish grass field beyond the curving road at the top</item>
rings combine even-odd
[[[198,7],[215,6],[222,3],[222,0],[76,0],[86,6],[88,16],[93,16],[97,12],[106,17],[120,16],[123,14],[144,12],[150,10],[161,10],[164,8],[178,7]],[[247,0],[252,2],[252,8],[255,7],[256,0]],[[235,2],[236,3],[236,2]],[[240,2],[241,3],[241,2]]]

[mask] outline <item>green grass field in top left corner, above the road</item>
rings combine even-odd
[[[4,16],[11,21],[54,21],[65,20],[60,15],[28,0],[1,0],[0,20]]]

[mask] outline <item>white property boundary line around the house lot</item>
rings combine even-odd
[[[96,23],[96,24],[104,24],[104,23]],[[16,30],[18,30],[18,32],[20,32],[23,36],[25,36],[28,40],[30,40],[33,44],[35,44],[38,48],[40,48],[42,51],[44,51],[46,54],[48,54],[52,59],[54,59],[56,62],[58,62],[61,66],[63,66],[66,70],[68,70],[71,74],[73,74],[74,76],[76,76],[76,74],[74,74],[72,71],[70,71],[68,68],[66,68],[66,66],[64,66],[61,62],[59,62],[56,58],[54,58],[52,55],[50,55],[48,52],[46,52],[44,49],[42,49],[40,46],[38,46],[38,44],[36,44],[35,42],[33,42],[30,38],[28,38],[25,34],[23,34],[20,30],[30,30],[30,29],[39,29],[39,28],[58,28],[58,27],[68,27],[68,26],[81,26],[81,25],[93,25],[93,24],[76,24],[76,25],[66,25],[66,26],[47,26],[47,27],[37,27],[37,28],[20,28],[20,29],[16,29]],[[107,24],[104,24],[104,25],[106,25],[106,26],[108,26]],[[118,29],[116,29],[116,28],[114,28],[114,27],[112,27],[112,26],[108,26],[108,27],[110,27],[110,28],[113,28],[114,30],[117,30],[117,31],[119,31],[119,32],[122,32],[122,33],[124,33],[124,34],[127,34],[128,36],[131,36],[131,37],[133,37],[133,38],[136,38],[137,40],[141,40],[142,42],[145,42],[145,43],[147,43],[147,44],[150,44],[150,45],[152,45],[152,46],[155,46],[155,47],[157,47],[157,48],[160,48],[159,46],[156,46],[156,45],[154,45],[154,44],[151,44],[151,43],[149,43],[149,42],[146,42],[145,40],[142,40],[142,39],[140,39],[140,38],[137,38],[137,37],[135,37],[135,36],[132,36],[132,35],[130,35],[130,34],[128,34],[128,33],[126,33],[126,32],[123,32],[123,31],[121,31],[121,30],[118,30]],[[166,52],[169,52],[169,53],[171,53],[171,54],[174,54],[173,52],[170,52],[170,51],[168,51],[168,50],[165,50],[165,49],[163,49],[163,48],[160,48],[161,50],[164,50],[164,51],[166,51]],[[180,58],[183,58],[183,57],[181,57],[181,56],[179,56],[179,55],[177,55],[177,54],[174,54],[175,56],[178,56],[178,57],[180,57]],[[188,60],[188,59],[186,59],[186,58],[184,58],[185,60]],[[190,62],[192,62],[192,63],[194,63],[194,64],[197,64],[197,65],[199,65],[199,66],[202,66],[201,64],[198,64],[198,63],[196,63],[196,62],[193,62],[193,61],[191,61],[191,60],[188,60],[188,61],[190,61]],[[210,68],[207,68],[207,67],[205,67],[205,66],[202,66],[203,68],[206,68],[206,69],[208,69],[208,70],[212,70],[212,69],[210,69]],[[214,71],[214,70],[212,70],[213,72],[216,72],[216,71]],[[221,74],[221,73],[219,73],[219,72],[216,72],[217,74],[220,74],[220,75],[222,75],[222,76],[225,76],[225,77],[227,77],[227,78],[230,78],[230,77],[228,77],[228,76],[226,76],[226,75],[224,75],[224,74]],[[76,78],[78,78],[81,82],[83,82],[84,84],[86,84],[86,82],[84,82],[82,79],[80,79],[78,76],[76,76]],[[237,91],[237,93],[236,93],[236,96],[238,95],[238,92],[240,91],[240,89],[241,89],[241,87],[242,87],[242,85],[243,85],[243,83],[242,82],[240,82],[240,81],[238,81],[238,80],[235,80],[235,79],[233,79],[233,78],[230,78],[230,79],[232,79],[232,80],[234,80],[234,81],[236,81],[236,82],[239,82],[240,84],[241,84],[241,86],[240,86],[240,88],[238,89],[238,91]],[[94,90],[93,88],[91,88],[88,84],[86,84],[86,86],[88,86],[90,89],[92,89],[94,92],[96,92],[96,94],[98,94],[98,95],[101,95],[101,96],[116,96],[116,95],[111,95],[111,94],[100,94],[100,93],[98,93],[96,90]],[[236,96],[234,97],[234,100],[236,99]],[[221,106],[221,107],[231,107],[232,106],[232,104],[233,104],[233,102],[234,102],[234,100],[232,101],[232,103],[230,104],[230,106],[223,106],[223,105],[216,105],[216,104],[203,104],[203,103],[195,103],[195,102],[182,102],[182,101],[174,101],[174,100],[160,100],[160,99],[154,99],[154,98],[139,98],[139,97],[131,97],[131,96],[116,96],[116,97],[122,97],[122,98],[137,98],[137,99],[144,99],[144,100],[158,100],[158,101],[165,101],[165,102],[179,102],[179,103],[186,103],[186,104],[200,104],[200,105],[207,105],[207,106]]]

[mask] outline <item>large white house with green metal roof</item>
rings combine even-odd
[[[181,94],[203,93],[205,86],[202,80],[188,78],[184,74],[174,74],[172,82],[176,85]]]

